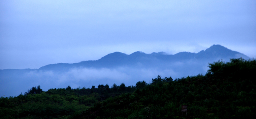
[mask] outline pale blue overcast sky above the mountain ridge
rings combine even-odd
[[[255,0],[0,1],[0,69],[213,44],[256,57]]]

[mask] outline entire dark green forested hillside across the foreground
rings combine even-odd
[[[256,116],[256,60],[209,64],[205,75],[96,88],[32,87],[0,98],[3,119],[234,119]],[[182,106],[187,106],[183,113]]]

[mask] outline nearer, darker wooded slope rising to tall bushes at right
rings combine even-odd
[[[253,118],[255,117],[255,60],[214,62],[205,76],[172,80],[157,76],[133,93],[108,98],[81,118]],[[187,105],[187,115],[181,106]]]

